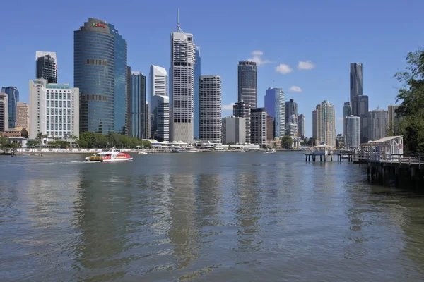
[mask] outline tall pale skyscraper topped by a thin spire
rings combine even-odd
[[[171,33],[172,140],[192,144],[194,140],[194,42],[193,35]]]

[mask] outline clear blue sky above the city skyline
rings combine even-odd
[[[312,110],[324,99],[341,118],[349,97],[349,63],[363,63],[370,109],[387,109],[400,86],[394,73],[424,42],[422,0],[4,1],[0,86],[18,87],[20,100],[28,102],[35,51],[56,51],[59,82],[73,85],[73,30],[88,18],[117,27],[128,42],[131,70],[148,75],[151,64],[169,68],[177,8],[182,30],[201,47],[202,75],[221,75],[223,104],[237,100],[238,61],[261,54],[259,106],[266,88],[282,87],[285,99],[293,97],[299,114],[305,114],[307,136],[312,135]],[[299,69],[300,61],[310,61],[301,66],[313,68]],[[290,92],[293,86],[302,92]],[[228,108],[223,116],[232,113]],[[342,121],[336,129],[343,133]]]

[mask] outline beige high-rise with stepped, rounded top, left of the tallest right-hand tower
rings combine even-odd
[[[334,106],[327,100],[317,105],[317,144],[336,146],[336,113]]]

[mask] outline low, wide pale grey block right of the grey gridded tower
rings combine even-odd
[[[246,118],[228,116],[222,120],[223,144],[246,143]]]

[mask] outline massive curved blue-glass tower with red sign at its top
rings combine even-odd
[[[73,82],[80,89],[80,130],[126,132],[126,41],[114,25],[89,18],[73,32]]]

